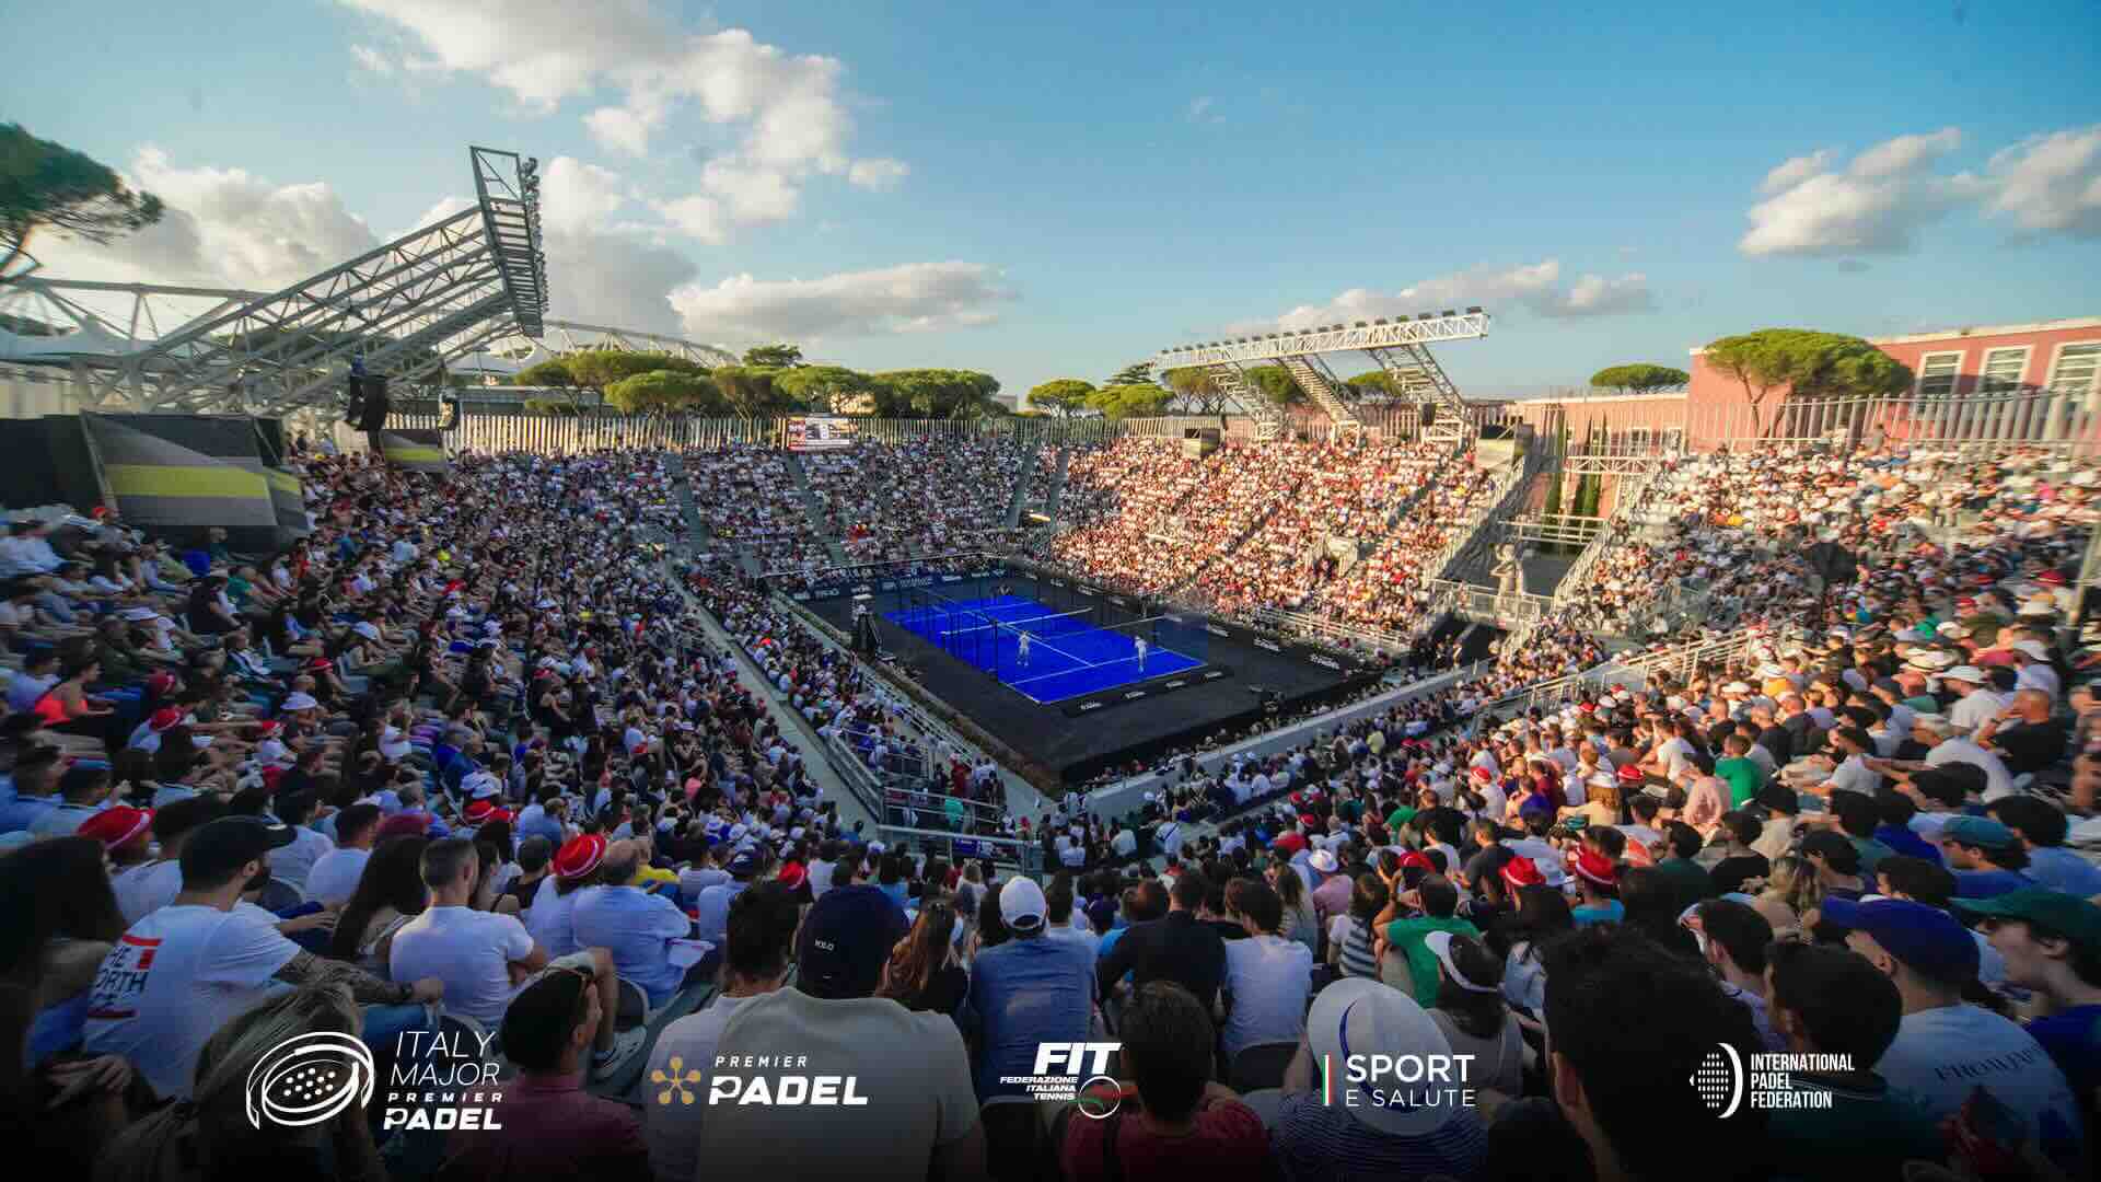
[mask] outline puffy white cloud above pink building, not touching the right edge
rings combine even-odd
[[[1832,168],[1817,151],[1773,168],[1750,206],[1744,254],[1895,254],[1910,250],[1918,227],[1967,200],[1975,181],[1937,177],[1931,166],[1962,143],[1962,133],[1899,135]]]

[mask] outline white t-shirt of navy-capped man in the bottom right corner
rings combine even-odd
[[[2034,1138],[2042,1115],[2080,1127],[2065,1073],[2027,1031],[1981,1005],[1906,1014],[1897,1041],[1874,1064],[1893,1092],[1910,1092],[1933,1119],[1952,1117],[1975,1087],[2013,1108]]]

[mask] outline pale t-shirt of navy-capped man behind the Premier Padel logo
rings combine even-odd
[[[937,1146],[977,1125],[971,1058],[945,1014],[782,989],[746,1001],[714,1054],[779,1056],[784,1047],[807,1062],[788,1073],[740,1068],[744,1087],[754,1077],[773,1085],[782,1075],[836,1075],[868,1102],[826,1108],[824,1136],[811,1136],[805,1106],[712,1104],[700,1127],[710,1178],[922,1178]]]

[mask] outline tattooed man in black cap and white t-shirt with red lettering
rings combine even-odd
[[[269,881],[269,852],[288,824],[225,816],[183,845],[183,892],[145,915],[103,959],[88,991],[86,1049],[128,1058],[162,1096],[187,1098],[204,1043],[277,989],[342,982],[368,1003],[437,1001],[443,984],[391,984],[355,965],[319,961],[244,906]]]

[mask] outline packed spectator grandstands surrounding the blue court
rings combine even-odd
[[[6,1119],[53,1171],[2090,1176],[2088,456],[1660,458],[1485,660],[1385,652],[1376,700],[1069,791],[794,591],[1017,555],[1410,635],[1515,469],[1137,431],[286,463],[275,551],[88,505],[0,541]],[[300,1037],[376,1094],[277,1071]]]

